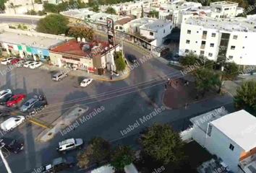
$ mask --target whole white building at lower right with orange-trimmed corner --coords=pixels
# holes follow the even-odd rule
[[[190,119],[192,138],[210,154],[221,158],[223,167],[235,173],[256,170],[256,118],[239,110],[203,114]]]

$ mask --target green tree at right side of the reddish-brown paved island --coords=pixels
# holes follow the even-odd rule
[[[216,89],[217,86],[221,85],[220,74],[207,68],[200,68],[195,72],[195,84],[197,90],[202,92],[202,97],[205,92],[210,89]]]

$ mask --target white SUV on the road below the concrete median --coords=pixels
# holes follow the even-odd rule
[[[56,148],[59,152],[73,150],[75,148],[82,148],[82,138],[69,138],[59,142],[59,147]]]

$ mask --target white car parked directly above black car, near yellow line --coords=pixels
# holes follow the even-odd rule
[[[25,121],[25,117],[19,115],[17,117],[10,117],[9,119],[5,120],[1,123],[0,127],[1,130],[8,131],[16,128],[20,125],[23,121]]]

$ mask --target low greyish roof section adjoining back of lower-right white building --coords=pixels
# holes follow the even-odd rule
[[[212,110],[210,112],[206,112],[202,115],[198,115],[197,117],[192,117],[190,119],[191,123],[201,130],[203,130],[205,133],[208,128],[208,123],[210,123],[213,120],[216,120],[220,117],[223,117],[224,115],[227,115],[229,112],[227,112],[223,107],[217,108],[215,110]]]

